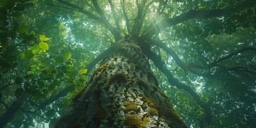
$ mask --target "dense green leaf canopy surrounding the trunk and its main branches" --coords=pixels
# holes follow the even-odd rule
[[[135,0],[121,1],[112,1],[115,13],[109,1],[98,3],[110,24],[115,26],[115,19],[119,20],[121,35],[125,36],[130,33],[122,5],[130,24],[136,22],[133,19],[138,9]],[[68,2],[100,15],[92,1]],[[163,49],[152,46],[152,50],[161,56],[174,77],[211,106],[211,123],[207,127],[255,127],[255,2],[152,0],[141,28],[144,30],[150,23],[157,24],[161,19],[192,9],[227,11],[218,17],[197,17],[172,27],[163,26],[163,31],[159,31],[154,40],[161,40],[175,51],[186,68],[177,65]],[[116,43],[112,34],[106,24],[58,1],[1,0],[0,116],[10,109],[18,109],[6,127],[40,127],[49,122],[52,125],[86,83],[86,65]],[[204,110],[188,92],[168,83],[150,63],[159,86],[170,97],[182,120],[190,127],[199,127]],[[22,106],[10,108],[25,94],[29,98]]]

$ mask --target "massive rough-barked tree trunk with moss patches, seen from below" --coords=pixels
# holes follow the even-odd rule
[[[56,127],[186,127],[159,90],[140,47],[132,40],[120,42]]]

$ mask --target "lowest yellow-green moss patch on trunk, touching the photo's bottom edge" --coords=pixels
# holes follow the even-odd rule
[[[127,128],[145,128],[141,118],[137,115],[127,115],[124,118],[124,124]]]

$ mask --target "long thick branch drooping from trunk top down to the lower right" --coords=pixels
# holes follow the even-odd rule
[[[168,70],[168,68],[164,66],[164,62],[161,60],[160,56],[157,56],[157,54],[151,51],[150,45],[147,42],[143,42],[143,40],[140,40],[138,42],[143,53],[147,55],[148,58],[150,58],[150,60],[154,62],[154,65],[156,65],[156,67],[161,72],[163,72],[164,76],[167,77],[168,82],[176,86],[177,88],[183,89],[186,92],[188,92],[196,100],[196,102],[204,109],[205,116],[203,120],[205,120],[205,122],[207,123],[211,122],[211,109],[204,101],[200,99],[200,96],[189,86],[187,86],[186,84],[180,83],[178,79],[173,77],[172,72],[170,72],[170,70]]]

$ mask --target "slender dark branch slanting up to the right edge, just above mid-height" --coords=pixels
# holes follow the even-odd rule
[[[214,67],[216,65],[218,65],[218,63],[220,63],[221,61],[225,61],[225,60],[228,60],[229,58],[232,58],[233,56],[236,56],[237,54],[241,53],[241,52],[246,52],[246,51],[256,51],[256,48],[254,47],[246,47],[244,49],[241,49],[241,50],[238,50],[238,51],[235,51],[235,52],[232,52],[230,54],[228,54],[227,56],[224,56],[214,62],[212,62],[210,64],[211,67]]]

